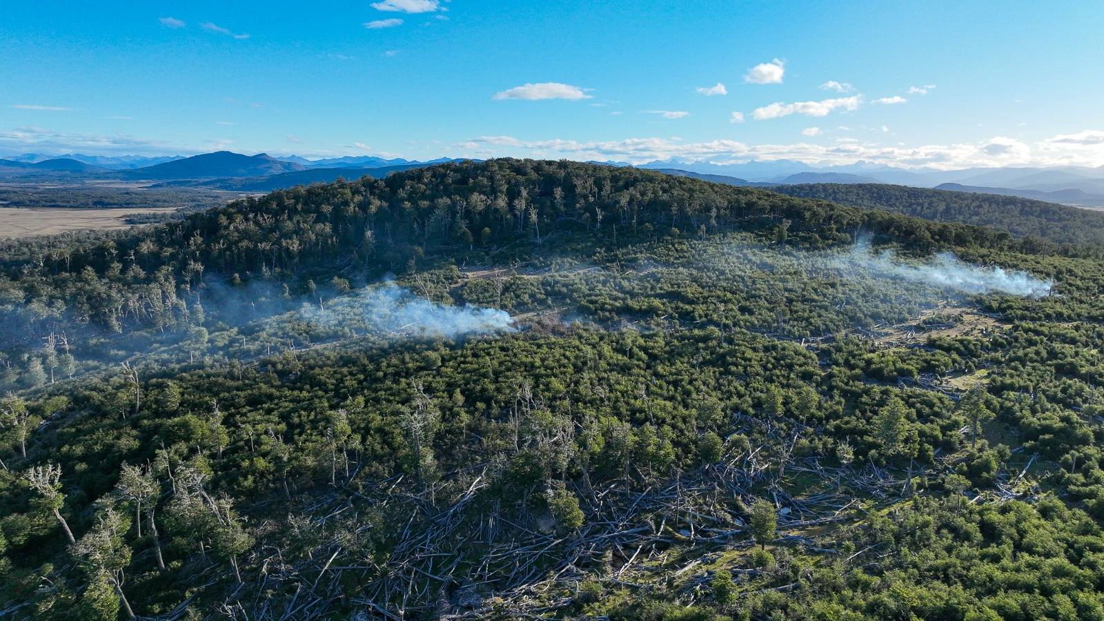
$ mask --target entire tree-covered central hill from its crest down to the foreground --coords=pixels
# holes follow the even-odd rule
[[[491,160],[4,252],[13,618],[1104,618],[1092,249]]]

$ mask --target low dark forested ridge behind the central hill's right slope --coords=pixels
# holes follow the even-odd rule
[[[773,189],[792,197],[885,209],[937,222],[990,227],[1059,244],[1104,244],[1104,212],[1052,202],[884,183],[806,183]]]

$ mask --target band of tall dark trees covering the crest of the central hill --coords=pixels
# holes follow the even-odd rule
[[[524,248],[544,253],[575,234],[617,244],[734,230],[804,248],[847,244],[860,234],[919,252],[1017,246],[1007,233],[986,229],[649,170],[500,159],[296,187],[100,244],[51,245],[42,253],[22,246],[19,260],[0,263],[7,276],[0,290],[117,329],[145,315],[135,285],[176,290],[204,272],[302,280],[311,270],[357,266],[371,278],[427,256],[461,263],[488,250],[499,257]]]

